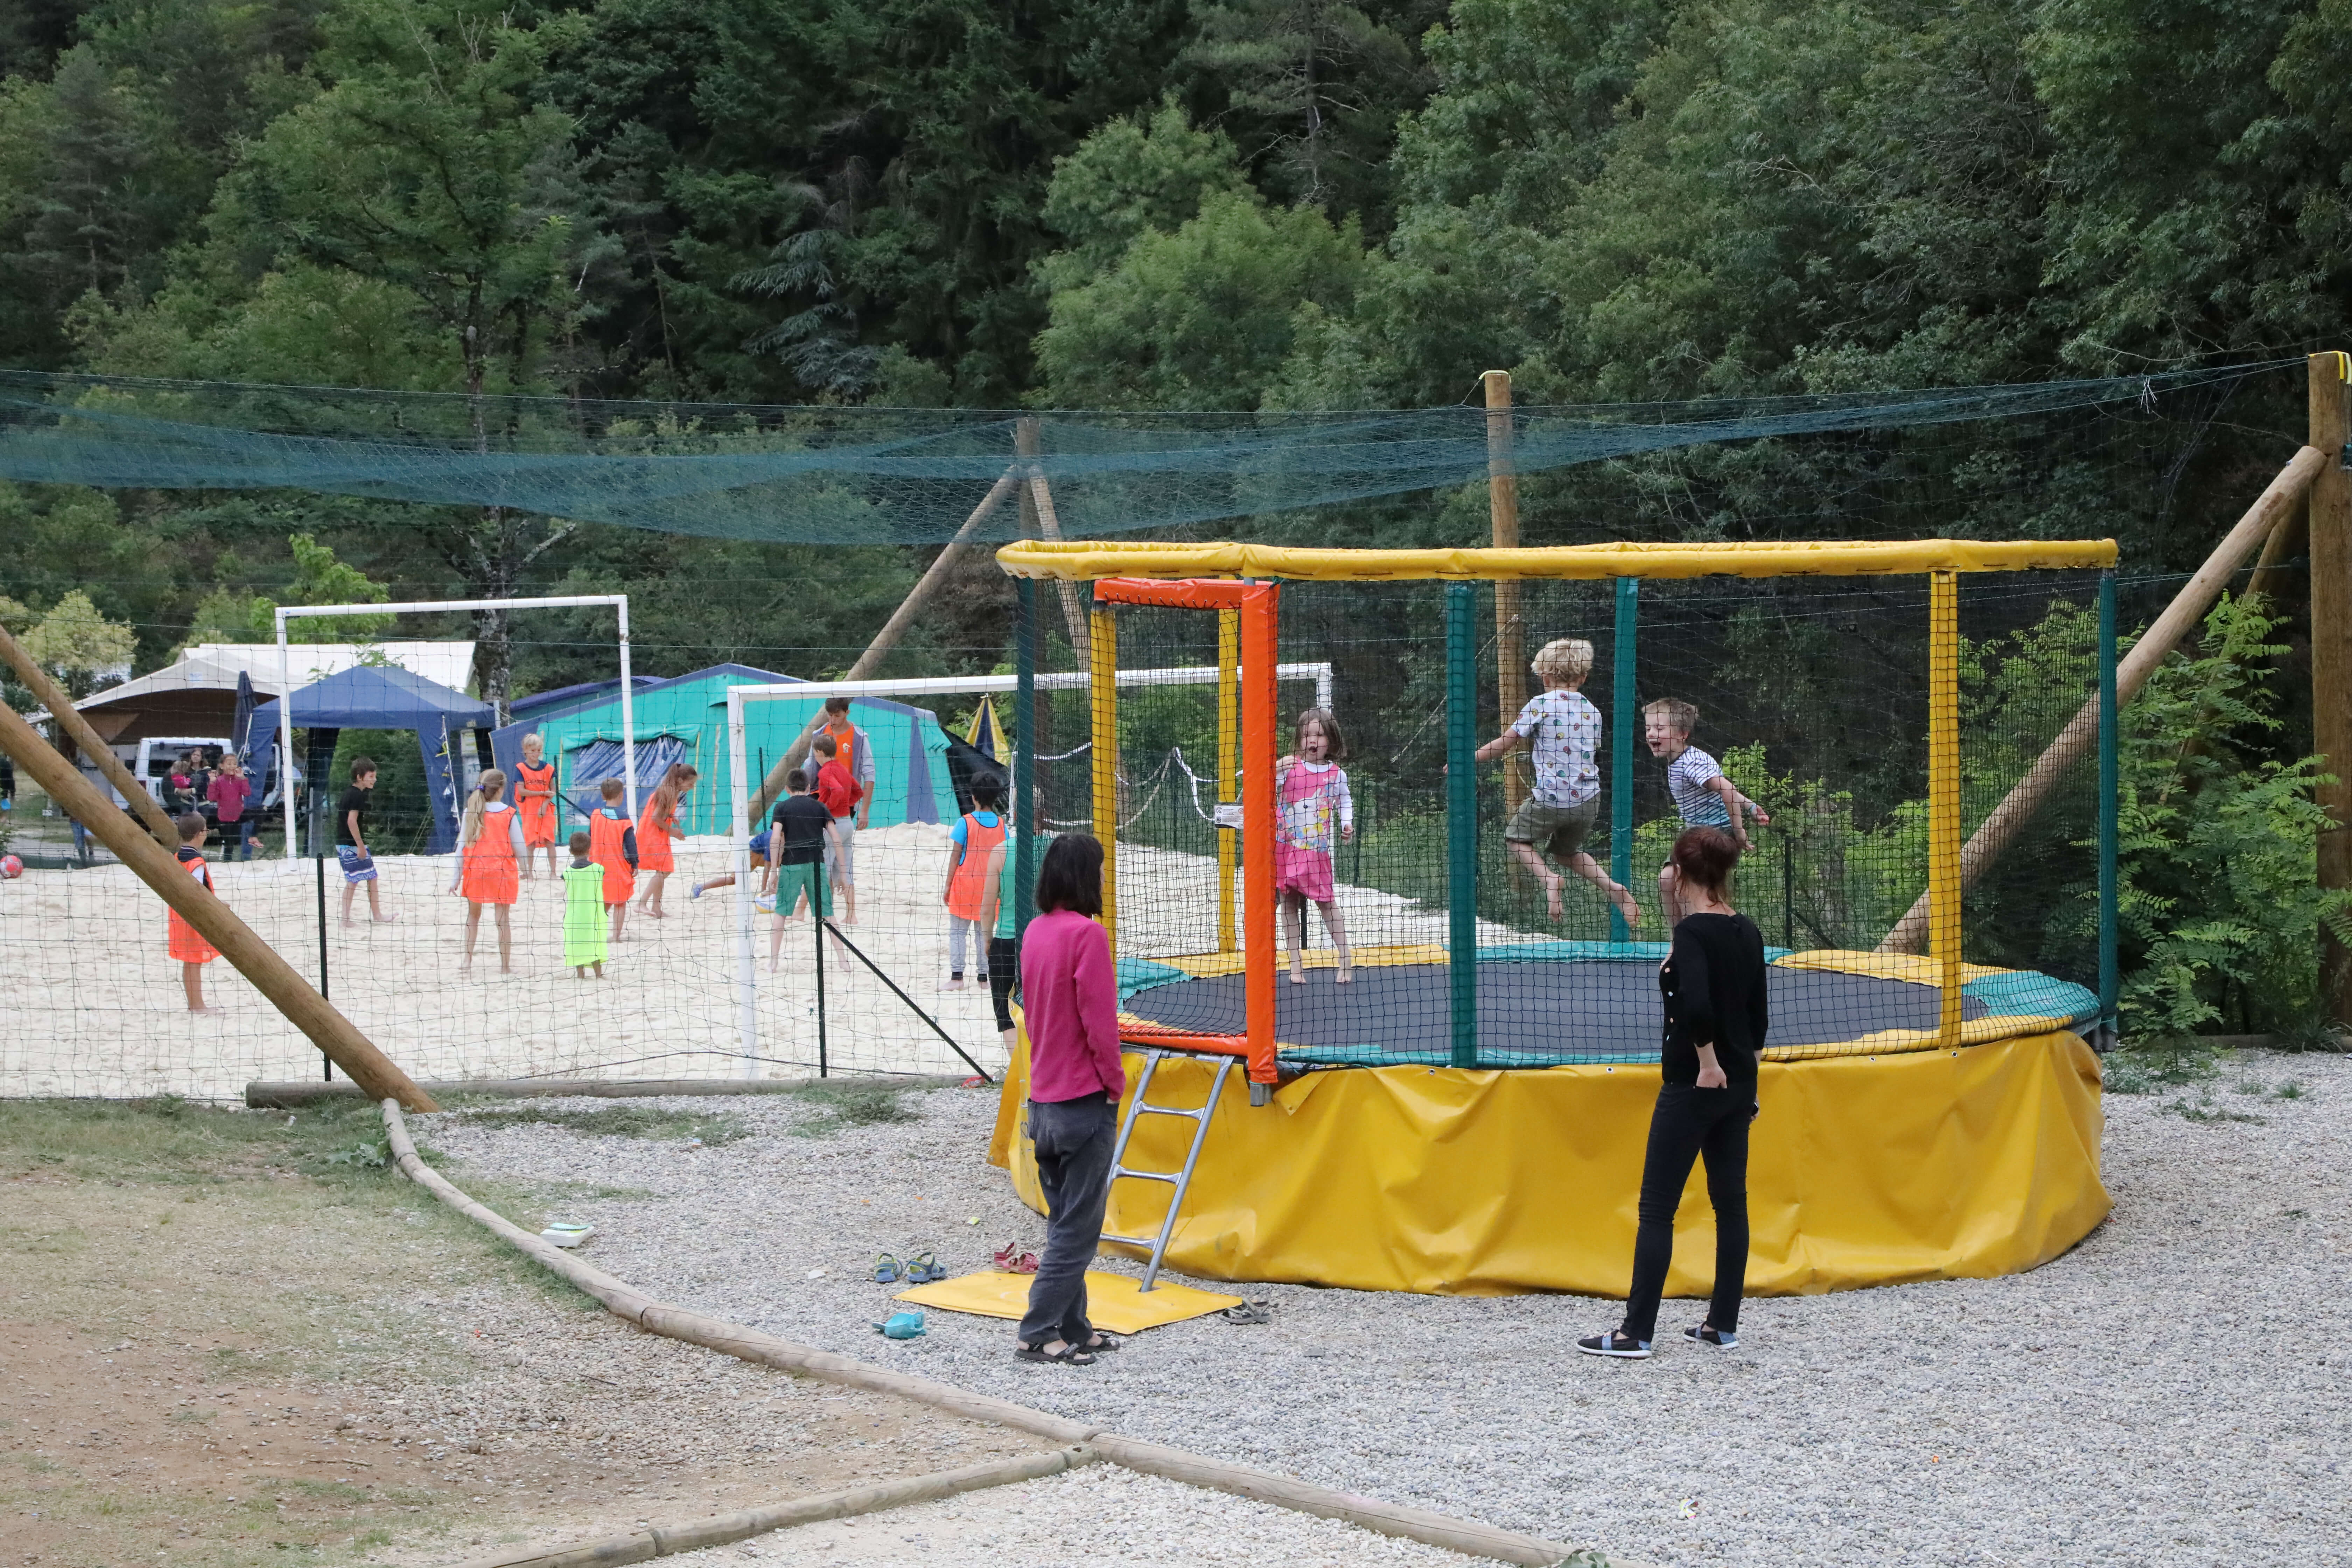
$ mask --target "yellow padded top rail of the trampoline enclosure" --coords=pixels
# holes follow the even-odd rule
[[[997,550],[1011,576],[1094,581],[1301,578],[1390,583],[1418,578],[1691,578],[1691,576],[1919,576],[1929,571],[2074,571],[2117,562],[2112,538],[1879,543],[1795,541],[1745,545],[1548,545],[1531,550],[1308,550],[1284,545],[1152,545],[1023,538]]]

